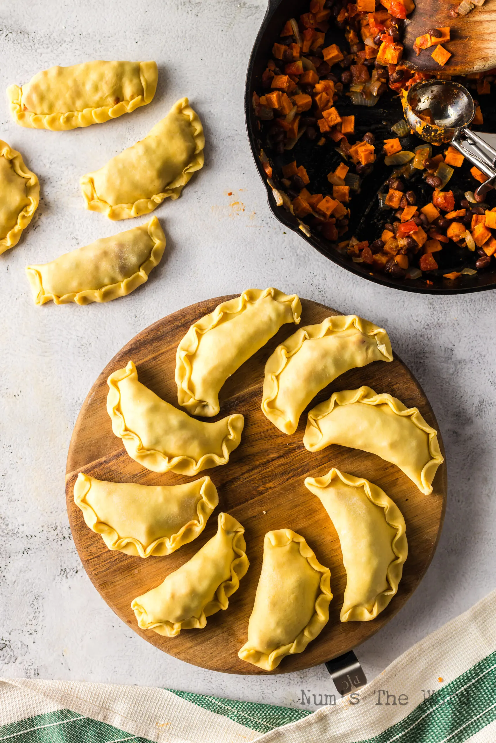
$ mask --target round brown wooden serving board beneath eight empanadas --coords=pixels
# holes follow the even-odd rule
[[[329,661],[367,640],[396,614],[411,596],[434,555],[442,527],[446,501],[446,467],[442,464],[434,479],[434,491],[422,495],[393,464],[379,457],[332,446],[311,454],[303,447],[306,412],[292,436],[281,433],[263,415],[263,370],[274,348],[295,331],[283,325],[279,333],[228,379],[221,390],[219,417],[233,412],[245,416],[245,429],[239,447],[228,464],[205,470],[219,490],[219,506],[204,532],[189,545],[168,557],[129,557],[109,551],[103,539],[92,532],[74,504],[73,487],[77,473],[115,482],[148,485],[178,484],[194,478],[150,472],[133,461],[120,438],[112,433],[106,412],[107,377],[132,359],[139,380],[161,398],[178,407],[174,381],[175,349],[187,329],[231,296],[219,296],[184,308],[139,333],[103,369],[91,388],[77,418],[68,452],[66,497],[72,536],[83,566],[95,588],[115,613],[141,637],[182,661],[196,666],[240,674],[263,674],[257,666],[238,658],[246,641],[248,619],[254,604],[263,557],[263,538],[271,529],[289,528],[305,537],[318,559],[331,571],[334,598],[329,607],[329,623],[305,652],[284,658],[274,673],[297,671]],[[317,302],[303,299],[300,325],[321,322],[339,314]],[[373,318],[370,318],[373,320]],[[376,392],[389,392],[407,406],[417,406],[431,426],[439,430],[434,413],[419,383],[405,364],[395,357],[392,363],[376,361],[363,369],[352,369],[324,389],[312,405],[326,400],[332,392],[355,389],[367,384]],[[212,419],[210,419],[212,420]],[[213,420],[216,420],[214,418]],[[442,440],[439,435],[439,445]],[[444,452],[443,452],[444,453]],[[331,467],[378,484],[399,505],[405,516],[408,559],[398,594],[387,609],[371,622],[341,623],[346,574],[338,536],[321,502],[306,490],[306,476],[322,476]],[[131,609],[132,600],[161,583],[167,574],[187,562],[217,529],[217,514],[232,513],[245,527],[250,568],[238,591],[229,599],[226,611],[208,617],[202,630],[183,630],[177,637],[161,637],[152,630],[141,630]]]

